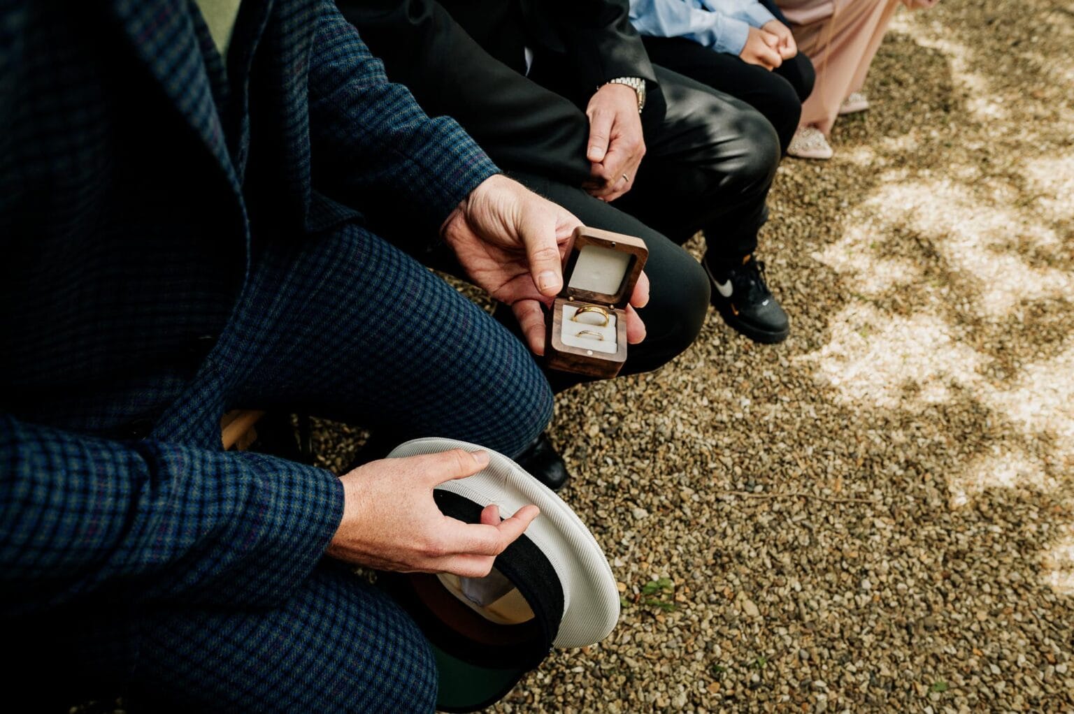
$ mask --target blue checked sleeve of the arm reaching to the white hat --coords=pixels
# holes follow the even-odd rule
[[[277,603],[323,555],[343,500],[339,479],[311,466],[0,414],[0,612],[95,593]]]

